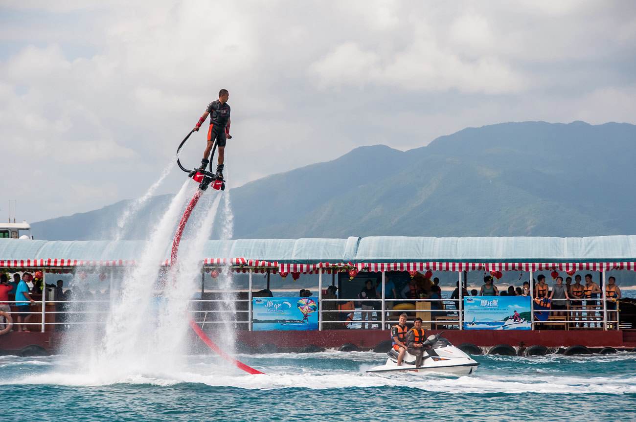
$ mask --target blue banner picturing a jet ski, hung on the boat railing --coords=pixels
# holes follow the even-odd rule
[[[464,330],[530,330],[529,296],[464,297]]]

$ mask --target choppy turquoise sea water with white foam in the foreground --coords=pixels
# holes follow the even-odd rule
[[[191,356],[112,379],[66,356],[0,357],[0,421],[633,421],[636,353],[478,356],[472,376],[371,375],[373,352]],[[117,378],[120,377],[120,378]]]

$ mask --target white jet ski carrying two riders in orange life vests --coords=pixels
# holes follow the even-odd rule
[[[448,375],[470,375],[477,371],[479,364],[463,351],[441,337],[442,333],[432,334],[424,341],[422,364],[415,366],[415,356],[404,353],[402,365],[397,366],[397,350],[389,350],[387,363],[373,367],[366,372],[372,374],[391,374],[396,372],[415,372],[417,375],[441,373]]]

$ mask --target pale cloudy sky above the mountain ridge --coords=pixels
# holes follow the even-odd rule
[[[0,217],[141,196],[219,88],[230,186],[466,126],[636,123],[635,46],[632,1],[4,0]]]

